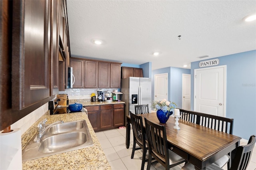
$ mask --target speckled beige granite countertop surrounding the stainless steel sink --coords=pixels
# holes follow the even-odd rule
[[[94,102],[92,102],[94,103]],[[90,121],[85,112],[79,113],[67,113],[60,115],[49,115],[46,113],[40,118],[32,127],[30,127],[22,135],[22,148],[26,143],[32,138],[36,132],[36,125],[43,119],[47,117],[48,122],[46,124],[54,123],[56,121],[63,120],[64,122],[76,121],[76,120],[86,120],[90,134],[93,140],[93,146],[82,148],[78,150],[73,150],[70,152],[64,152],[60,154],[55,154],[52,156],[46,156],[43,158],[38,158],[34,160],[28,160],[22,162],[22,169],[40,169],[40,170],[111,170],[110,164],[106,159],[100,142],[90,124]]]

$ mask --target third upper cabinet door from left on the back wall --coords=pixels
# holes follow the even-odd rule
[[[110,63],[99,62],[98,88],[110,87]]]

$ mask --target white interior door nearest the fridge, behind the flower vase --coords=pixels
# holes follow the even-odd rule
[[[168,73],[156,74],[154,78],[154,101],[168,100]]]

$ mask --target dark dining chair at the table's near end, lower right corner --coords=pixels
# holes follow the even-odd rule
[[[254,148],[256,139],[255,135],[250,136],[247,145],[238,146],[236,149],[232,151],[232,161],[230,170],[246,170],[250,163],[250,159],[252,157],[252,150]],[[233,156],[234,155],[234,156]],[[195,167],[191,163],[185,164],[182,170],[194,170]],[[215,163],[210,164],[210,166],[206,167],[206,170],[223,170],[220,166]]]

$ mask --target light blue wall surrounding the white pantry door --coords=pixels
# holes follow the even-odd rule
[[[226,65],[226,117],[234,119],[233,134],[244,139],[256,134],[256,50],[218,57]],[[203,60],[202,60],[203,61]],[[194,109],[194,69],[191,63],[191,110]]]

